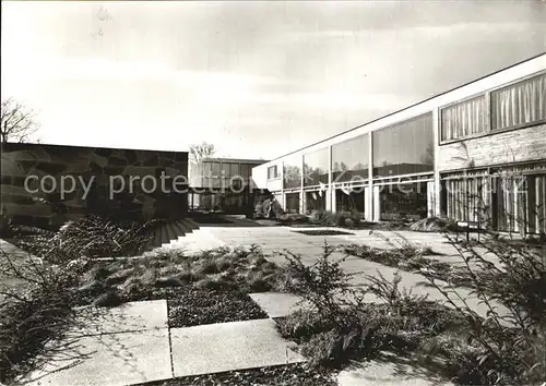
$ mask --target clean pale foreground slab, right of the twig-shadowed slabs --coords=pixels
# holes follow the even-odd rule
[[[270,318],[173,328],[170,340],[176,377],[305,361]]]

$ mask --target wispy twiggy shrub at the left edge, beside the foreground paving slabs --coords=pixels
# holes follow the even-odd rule
[[[31,366],[68,351],[54,341],[76,324],[72,306],[78,274],[32,256],[14,260],[1,251],[0,277],[22,282],[0,290],[0,382],[10,383]]]

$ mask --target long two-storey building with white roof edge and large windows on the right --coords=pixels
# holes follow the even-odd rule
[[[252,169],[287,212],[546,231],[546,55]]]

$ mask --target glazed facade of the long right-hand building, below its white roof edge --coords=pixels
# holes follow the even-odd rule
[[[480,86],[476,84],[476,87]],[[383,125],[343,142],[340,142],[341,137],[332,137],[319,144],[325,146],[319,150],[307,154],[301,150],[298,155],[288,156],[282,164],[282,170],[277,169],[281,168],[280,162],[278,167],[272,165],[266,169],[269,180],[284,173],[283,185],[278,181],[278,184],[269,182],[266,186],[274,193],[285,194],[284,203],[288,212],[323,210],[328,203],[328,208],[334,212],[366,210],[366,219],[370,220],[419,219],[441,213],[461,221],[479,221],[483,225],[490,221],[494,228],[508,231],[522,229],[519,222],[523,221],[526,231],[544,232],[545,168],[534,169],[533,166],[533,169],[526,170],[522,184],[491,174],[499,168],[514,168],[515,161],[523,165],[527,159],[535,165],[544,159],[542,144],[529,152],[529,157],[508,160],[497,157],[492,150],[498,150],[499,146],[495,141],[505,141],[509,134],[497,135],[490,141],[487,137],[483,142],[475,138],[494,134],[495,130],[535,125],[518,132],[513,140],[507,142],[518,142],[527,133],[529,142],[537,142],[537,137],[539,141],[539,130],[546,123],[546,74],[544,71],[539,74],[535,72],[517,82],[505,83],[500,88],[485,91],[476,87],[468,87],[467,97],[456,96],[460,99],[453,104],[444,105],[444,97],[427,101],[431,110],[428,113]],[[450,98],[450,94],[446,98]],[[367,131],[366,128],[359,130]],[[438,132],[435,133],[435,130]],[[482,168],[478,170],[474,166],[451,161],[461,158],[455,147],[460,146],[464,152],[465,144],[470,142],[449,142],[470,138],[485,144],[484,153],[488,152],[490,143],[495,164],[487,166],[487,171],[484,171],[484,162],[476,162]],[[472,146],[466,150],[475,152]],[[438,174],[432,176],[435,153],[442,157],[437,168],[442,176],[440,180]],[[464,172],[455,171],[459,169]],[[536,176],[530,174],[530,171],[535,173],[537,170]],[[372,180],[368,181],[370,173]],[[396,180],[400,183],[393,184]],[[328,186],[329,182],[332,185]],[[366,194],[354,190],[365,184]],[[328,190],[323,189],[324,185]],[[318,191],[312,192],[319,186],[322,195]],[[489,218],[485,218],[487,216]]]

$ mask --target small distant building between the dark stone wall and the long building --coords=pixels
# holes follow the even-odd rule
[[[252,168],[266,162],[263,159],[205,158],[191,164],[189,169],[192,193],[189,207],[195,210],[245,213],[253,207],[251,196],[245,194],[252,182]]]

